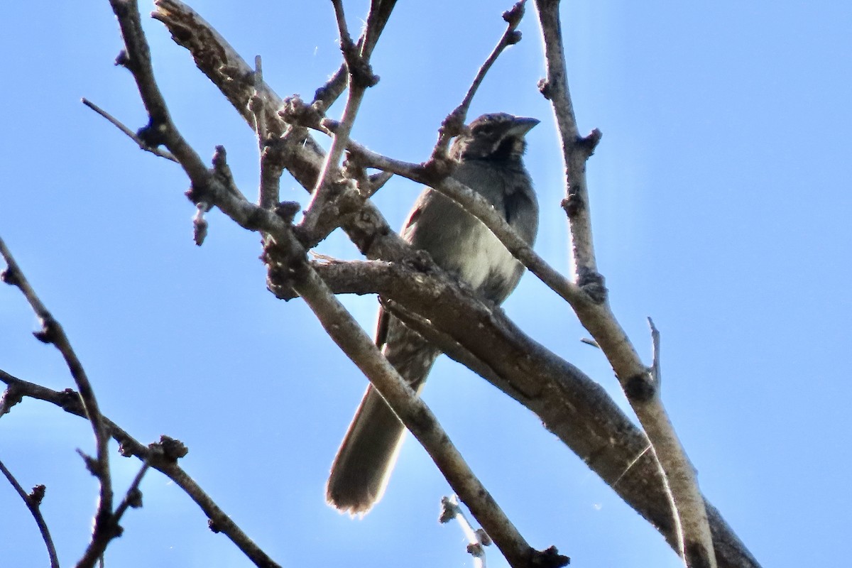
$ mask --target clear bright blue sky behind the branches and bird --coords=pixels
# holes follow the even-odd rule
[[[279,95],[305,97],[339,64],[330,3],[192,4]],[[420,161],[504,23],[507,3],[400,3],[376,50],[382,77],[354,137]],[[150,5],[143,3],[142,12]],[[358,29],[366,2],[347,3]],[[599,266],[613,310],[650,352],[663,334],[664,400],[715,503],[763,565],[839,565],[852,498],[845,433],[849,353],[852,5],[566,3],[569,81],[581,131],[604,136],[589,163]],[[283,566],[469,565],[461,532],[438,525],[446,482],[411,440],[365,519],[325,506],[331,459],[366,380],[299,301],[265,290],[258,238],[211,213],[204,247],[181,170],[141,152],[79,99],[137,128],[141,103],[112,66],[118,26],[103,2],[11,3],[0,34],[0,235],[60,318],[102,410],[137,439],[183,440],[187,472]],[[256,195],[252,132],[157,22],[155,72],[202,155],[223,144]],[[527,166],[542,206],[537,250],[567,269],[561,158],[532,9],[477,95],[471,117],[542,119]],[[335,109],[339,112],[339,108]],[[306,203],[291,180],[282,198]],[[419,188],[391,181],[377,204],[399,225]],[[351,258],[339,235],[321,252]],[[375,300],[346,298],[371,330]],[[505,305],[531,336],[625,405],[602,354],[561,301],[526,276]],[[0,290],[0,368],[72,386],[35,318]],[[527,410],[440,359],[424,397],[534,546],[582,566],[677,566],[647,523]],[[75,448],[87,424],[26,401],[0,420],[0,459],[43,511],[62,565],[87,542],[96,487]],[[117,487],[138,464],[113,453]],[[248,566],[159,473],[124,519],[107,565]],[[36,527],[0,485],[3,565],[46,565]],[[504,565],[496,551],[492,565]]]

